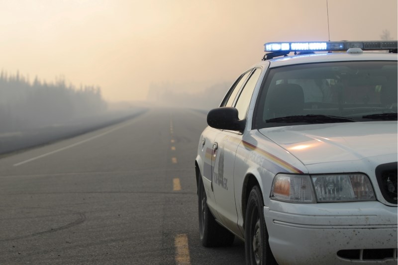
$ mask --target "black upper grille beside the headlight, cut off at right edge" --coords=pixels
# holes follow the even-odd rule
[[[383,197],[388,202],[397,204],[397,163],[378,166],[376,177]]]

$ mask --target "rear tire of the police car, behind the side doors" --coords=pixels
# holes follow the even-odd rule
[[[231,246],[235,235],[215,221],[207,206],[207,196],[201,176],[198,185],[199,234],[202,246]]]

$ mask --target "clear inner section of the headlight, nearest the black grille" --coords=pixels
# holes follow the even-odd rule
[[[375,200],[369,177],[364,174],[311,176],[318,202]]]

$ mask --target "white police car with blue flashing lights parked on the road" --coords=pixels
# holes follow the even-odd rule
[[[397,264],[397,41],[265,51],[199,139],[201,244],[243,240],[248,265]]]

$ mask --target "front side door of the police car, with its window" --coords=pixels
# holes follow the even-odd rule
[[[250,100],[260,74],[260,68],[251,72],[250,77],[232,103],[232,106],[238,109],[240,120],[246,119]],[[212,185],[217,214],[220,221],[236,234],[241,234],[241,231],[237,225],[233,172],[236,150],[241,141],[242,132],[223,130],[216,135],[213,143]]]

